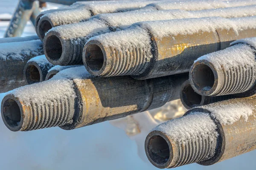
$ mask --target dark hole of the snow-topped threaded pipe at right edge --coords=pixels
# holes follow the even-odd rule
[[[212,69],[204,64],[199,64],[195,67],[192,79],[196,88],[202,91],[209,91],[215,82]]]

